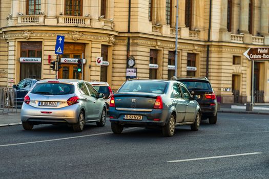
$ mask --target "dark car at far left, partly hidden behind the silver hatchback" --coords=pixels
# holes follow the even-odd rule
[[[26,94],[30,91],[30,89],[33,87],[33,85],[37,82],[36,79],[26,78],[22,81],[18,82],[17,85],[13,85],[13,87],[16,89],[16,102],[17,104],[23,104],[24,97]]]

